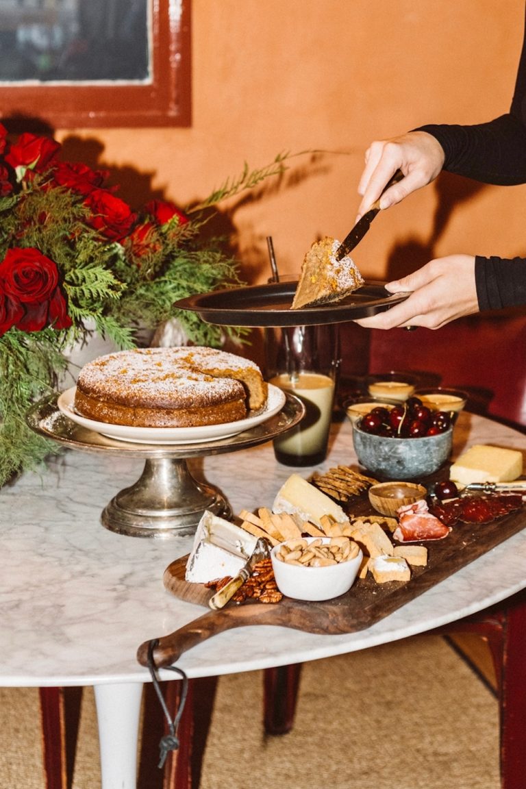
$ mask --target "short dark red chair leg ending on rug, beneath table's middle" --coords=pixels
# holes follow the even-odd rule
[[[294,725],[301,664],[263,672],[263,724],[269,735],[285,735]]]

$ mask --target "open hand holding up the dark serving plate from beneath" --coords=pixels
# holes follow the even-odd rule
[[[387,282],[392,294],[411,295],[370,318],[356,320],[369,329],[424,326],[439,329],[450,320],[479,312],[475,284],[475,256],[449,255],[431,260],[402,279]]]

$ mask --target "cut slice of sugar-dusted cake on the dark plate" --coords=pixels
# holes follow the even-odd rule
[[[339,245],[339,241],[326,236],[308,250],[301,265],[293,309],[336,304],[364,284],[349,255],[336,259]]]

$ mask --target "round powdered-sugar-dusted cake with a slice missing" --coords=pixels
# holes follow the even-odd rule
[[[267,402],[254,362],[203,346],[109,353],[80,370],[77,413],[109,424],[188,428],[244,419]]]

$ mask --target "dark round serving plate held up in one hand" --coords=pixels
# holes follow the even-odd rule
[[[291,309],[297,282],[270,282],[228,290],[213,290],[176,301],[176,309],[198,312],[206,323],[219,326],[314,326],[345,323],[383,312],[408,293],[390,294],[382,282],[364,286],[335,305]]]

